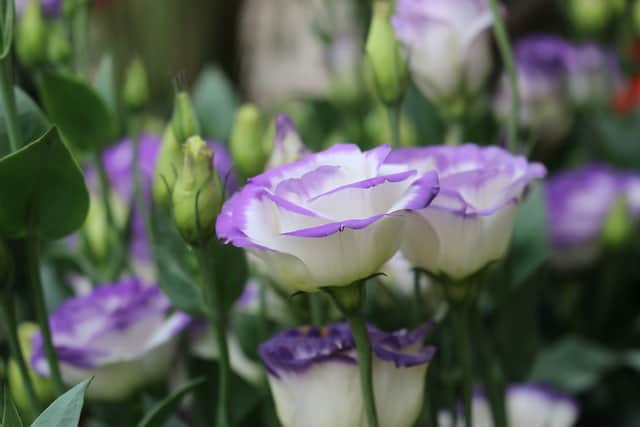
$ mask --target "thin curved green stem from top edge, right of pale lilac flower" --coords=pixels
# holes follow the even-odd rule
[[[493,15],[493,32],[498,43],[498,50],[505,70],[509,76],[509,85],[511,86],[511,114],[507,123],[507,136],[509,138],[508,147],[512,152],[516,152],[518,147],[518,127],[520,121],[520,93],[518,91],[518,72],[513,60],[513,52],[507,28],[500,13],[500,6],[497,0],[489,0],[491,14]]]

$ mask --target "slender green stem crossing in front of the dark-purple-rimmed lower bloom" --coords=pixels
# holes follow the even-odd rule
[[[371,357],[371,342],[367,333],[367,325],[360,313],[346,315],[351,333],[356,343],[358,353],[358,367],[360,368],[360,386],[364,400],[367,423],[369,427],[378,427],[378,413],[373,391],[373,366]]]

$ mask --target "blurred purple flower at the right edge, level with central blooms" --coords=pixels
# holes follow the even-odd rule
[[[562,268],[584,267],[601,250],[600,237],[616,201],[623,197],[631,218],[640,218],[640,177],[602,164],[561,172],[545,186],[552,260]]]

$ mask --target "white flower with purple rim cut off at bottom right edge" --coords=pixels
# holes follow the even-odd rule
[[[477,392],[472,405],[473,425],[493,427],[491,409],[484,394]],[[571,427],[578,418],[578,405],[571,397],[531,384],[510,386],[506,407],[508,423],[513,427]],[[441,412],[438,418],[441,427],[453,426],[450,414]],[[458,418],[457,425],[464,426],[463,417]]]

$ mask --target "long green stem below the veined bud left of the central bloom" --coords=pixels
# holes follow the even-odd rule
[[[198,263],[202,270],[202,292],[209,308],[209,329],[218,347],[218,406],[216,411],[216,426],[230,427],[229,420],[229,385],[231,367],[229,363],[229,347],[227,345],[227,328],[222,289],[215,280],[213,271],[213,256],[207,250],[208,245],[196,248]]]

